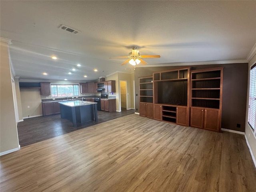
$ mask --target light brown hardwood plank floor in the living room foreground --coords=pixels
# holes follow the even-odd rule
[[[124,116],[1,156],[1,192],[256,192],[243,135]]]

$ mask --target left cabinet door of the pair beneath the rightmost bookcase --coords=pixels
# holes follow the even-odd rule
[[[204,109],[203,108],[190,108],[190,126],[203,128],[204,122]]]

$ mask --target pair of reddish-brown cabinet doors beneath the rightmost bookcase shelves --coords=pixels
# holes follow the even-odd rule
[[[190,126],[219,132],[220,110],[191,107]]]

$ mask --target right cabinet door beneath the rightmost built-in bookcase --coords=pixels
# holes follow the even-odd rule
[[[204,109],[204,129],[219,131],[220,128],[220,110]]]

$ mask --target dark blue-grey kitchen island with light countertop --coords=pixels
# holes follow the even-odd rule
[[[60,103],[60,117],[73,122],[73,126],[90,121],[98,121],[97,103],[89,101],[64,101]]]

